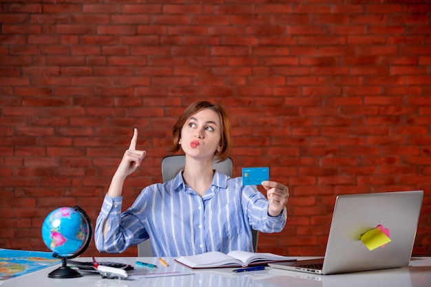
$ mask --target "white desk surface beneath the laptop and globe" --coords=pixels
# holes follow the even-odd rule
[[[300,258],[300,257],[299,257]],[[190,271],[190,268],[174,262],[174,258],[166,259],[168,267],[162,266],[154,257],[96,257],[98,261],[115,261],[135,265],[136,260],[154,263],[159,270]],[[91,261],[90,257],[77,260]],[[175,277],[155,277],[134,281],[119,279],[103,279],[97,273],[82,273],[83,277],[73,279],[52,279],[48,273],[58,268],[53,266],[23,275],[17,278],[0,281],[1,287],[430,287],[431,257],[414,257],[409,266],[385,270],[374,270],[340,275],[308,275],[288,270],[267,267],[265,270],[232,273],[234,268],[192,270],[193,275]],[[136,267],[138,268],[143,267]]]

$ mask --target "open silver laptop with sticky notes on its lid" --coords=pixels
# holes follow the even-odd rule
[[[407,266],[422,200],[423,191],[338,195],[325,256],[269,266],[323,275]],[[370,250],[361,237],[377,226],[389,230],[390,242]]]

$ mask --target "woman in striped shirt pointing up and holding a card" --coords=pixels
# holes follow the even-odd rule
[[[220,105],[198,101],[178,118],[171,151],[182,149],[185,168],[173,180],[151,184],[121,213],[127,176],[145,157],[136,150],[138,131],[109,186],[96,221],[98,251],[121,253],[151,237],[155,256],[178,257],[209,251],[253,251],[251,228],[264,233],[282,231],[286,223],[288,189],[262,182],[268,200],[242,178],[213,171],[213,160],[229,158],[230,121]]]

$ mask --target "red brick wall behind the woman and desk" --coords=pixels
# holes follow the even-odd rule
[[[138,127],[131,204],[208,99],[231,115],[235,176],[268,165],[290,187],[259,251],[323,255],[336,195],[423,189],[414,253],[431,255],[431,4],[384,2],[1,1],[0,247],[48,251],[59,206],[95,221]]]

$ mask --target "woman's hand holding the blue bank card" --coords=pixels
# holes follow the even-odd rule
[[[279,183],[264,181],[262,187],[266,189],[266,198],[269,201],[268,214],[278,216],[283,211],[289,197],[288,187]]]

